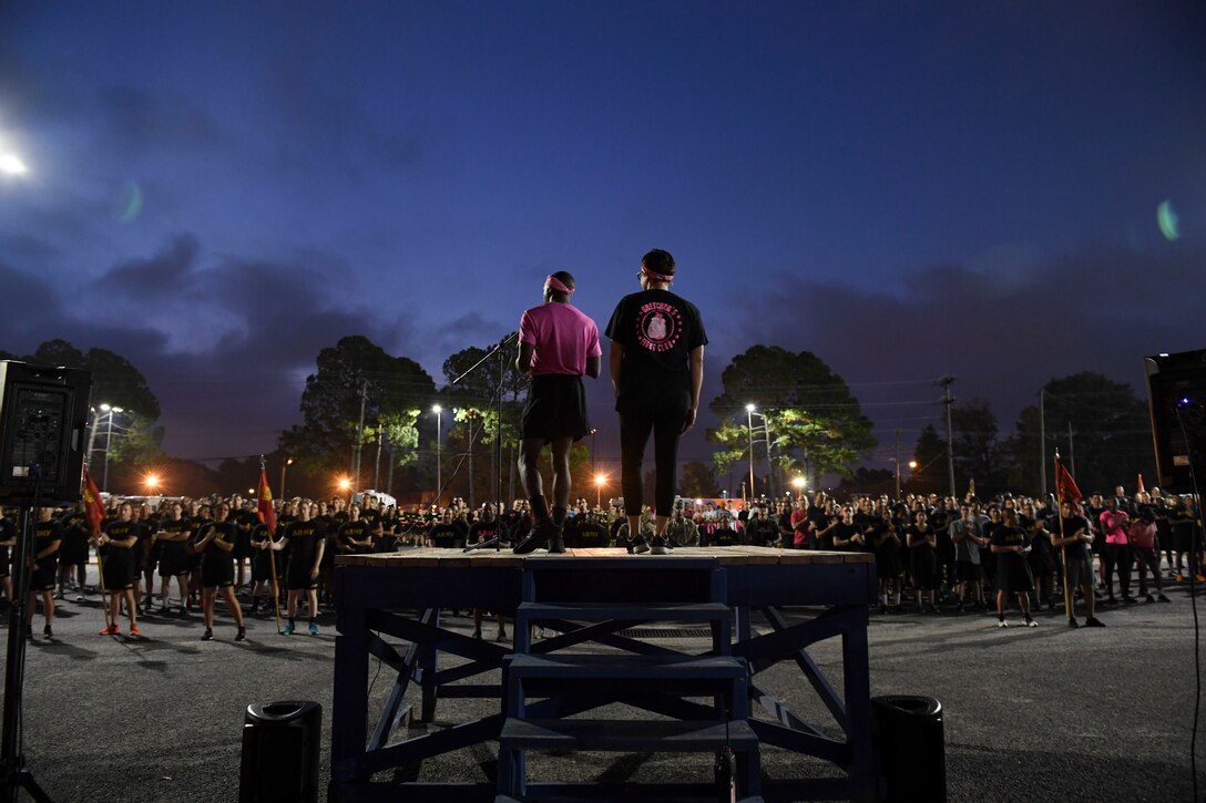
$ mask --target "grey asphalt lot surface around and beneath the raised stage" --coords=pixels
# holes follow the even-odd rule
[[[996,627],[996,617],[872,615],[873,694],[920,694],[944,708],[952,801],[1192,799],[1189,743],[1194,715],[1194,620],[1188,587],[1169,588],[1171,604],[1105,608],[1100,629],[1070,629],[1062,610],[1043,611],[1040,627]],[[1206,615],[1206,610],[1202,611]],[[808,611],[797,615],[807,616]],[[468,617],[452,627],[472,631]],[[334,616],[318,635],[277,634],[270,617],[248,617],[248,638],[219,609],[216,639],[203,641],[199,614],[151,615],[145,638],[101,637],[99,597],[60,602],[55,638],[29,644],[24,694],[24,754],[35,779],[55,801],[188,802],[238,797],[240,733],[246,707],[312,699],[323,707],[321,778],[328,776]],[[124,627],[124,621],[123,621]],[[493,627],[486,627],[486,637]],[[674,639],[692,649],[691,638]],[[698,649],[706,649],[704,639]],[[813,657],[839,682],[838,645]],[[390,670],[376,676],[375,701]],[[820,705],[795,667],[771,670],[768,686],[824,725]],[[446,727],[487,705],[441,703],[427,729]],[[370,707],[370,720],[371,720]],[[1199,739],[1201,742],[1201,739]],[[772,776],[818,768],[763,757]],[[1199,770],[1201,770],[1199,744]],[[490,745],[423,764],[421,778],[482,781]],[[551,755],[532,762],[541,779],[592,780],[710,773],[681,756]],[[781,775],[779,775],[781,774]],[[1199,796],[1206,778],[1199,772]]]

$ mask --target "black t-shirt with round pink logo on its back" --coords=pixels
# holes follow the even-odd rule
[[[691,406],[693,348],[708,342],[699,310],[665,289],[620,299],[607,336],[624,346],[619,412],[673,412]]]

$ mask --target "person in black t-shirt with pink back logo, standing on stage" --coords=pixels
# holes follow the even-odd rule
[[[615,409],[620,414],[620,467],[625,515],[634,553],[669,551],[666,526],[674,512],[678,444],[695,426],[703,387],[703,347],[708,336],[693,304],[671,292],[674,257],[655,248],[640,260],[640,292],[620,299],[607,336]],[[655,523],[652,544],[640,533],[644,504],[640,471],[654,435]]]

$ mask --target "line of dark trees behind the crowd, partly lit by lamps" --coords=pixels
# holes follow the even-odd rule
[[[392,356],[362,335],[322,348],[302,392],[302,422],[281,433],[270,464],[293,458],[291,494],[321,496],[332,490],[334,477],[344,476],[357,487],[393,490],[414,502],[429,502],[438,480],[446,486],[445,502],[455,496],[470,503],[493,498],[496,482],[504,498],[514,498],[527,380],[515,370],[511,348],[496,350],[514,334],[451,354],[439,386],[417,362]],[[65,340],[49,340],[33,354],[0,351],[0,358],[90,370],[94,404],[104,400],[130,411],[109,452],[122,477],[123,471],[136,475],[140,467],[170,462],[174,485],[187,482],[191,493],[201,494],[211,488],[244,491],[247,477],[258,475],[258,458],[230,458],[209,469],[166,456],[157,423],[159,402],[121,354],[83,352]],[[819,356],[755,345],[732,358],[721,385],[720,395],[708,404],[718,421],[707,430],[712,461],[683,467],[684,496],[720,496],[720,477],[736,475],[743,477],[742,491],[755,496],[795,492],[797,477],[807,488],[836,481],[847,492],[894,493],[895,471],[866,465],[878,446],[874,423],[845,380]],[[1044,479],[1049,491],[1055,449],[1085,491],[1132,487],[1140,471],[1154,479],[1147,405],[1129,385],[1082,373],[1050,380],[1036,397],[1041,404],[1023,410],[1007,434],[988,402],[953,404],[950,444],[936,405],[936,423],[921,429],[912,452],[915,468],[904,473],[902,491],[946,493],[948,447],[959,494],[973,482],[979,496],[1040,493]],[[595,487],[592,449],[587,439],[570,455],[575,493],[587,498],[593,498]],[[613,479],[608,496],[619,493],[617,485]]]

